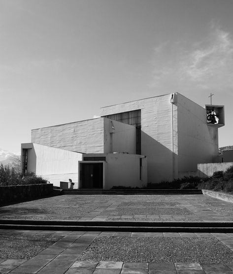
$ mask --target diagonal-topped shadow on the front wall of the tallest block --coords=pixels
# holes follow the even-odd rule
[[[178,177],[178,155],[143,131],[141,131],[141,154],[147,157],[148,183],[172,181]]]

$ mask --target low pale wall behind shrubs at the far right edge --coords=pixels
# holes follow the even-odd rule
[[[210,177],[216,171],[225,171],[227,168],[233,165],[233,162],[228,163],[207,163],[198,164],[197,176]]]

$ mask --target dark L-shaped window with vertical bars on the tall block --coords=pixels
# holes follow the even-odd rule
[[[105,115],[108,119],[127,123],[136,127],[136,153],[141,154],[141,110],[132,110],[121,113]]]

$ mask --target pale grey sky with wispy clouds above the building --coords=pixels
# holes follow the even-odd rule
[[[233,145],[233,0],[0,0],[0,148],[31,129],[178,91],[225,105]]]

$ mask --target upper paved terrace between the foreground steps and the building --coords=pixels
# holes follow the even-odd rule
[[[232,205],[206,195],[62,195],[0,207],[0,218],[224,222]]]

